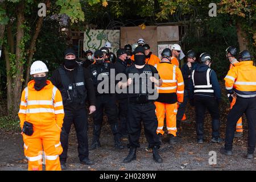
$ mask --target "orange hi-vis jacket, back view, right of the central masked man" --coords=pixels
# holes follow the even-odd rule
[[[177,101],[183,102],[184,81],[182,73],[174,64],[161,62],[155,65],[163,84],[156,87],[158,93],[176,93]]]

